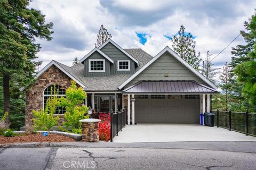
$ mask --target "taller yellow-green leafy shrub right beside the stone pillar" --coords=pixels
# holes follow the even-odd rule
[[[71,81],[71,86],[66,90],[66,98],[60,98],[60,105],[66,108],[63,125],[71,127],[73,133],[82,133],[79,120],[89,118],[86,114],[88,107],[83,105],[85,99],[86,92],[82,87],[77,88],[75,81]]]

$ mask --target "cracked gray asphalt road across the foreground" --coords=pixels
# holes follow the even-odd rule
[[[255,145],[105,142],[73,147],[0,148],[0,169],[255,169]]]

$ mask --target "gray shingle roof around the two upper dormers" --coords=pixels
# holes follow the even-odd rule
[[[140,66],[135,69],[135,72],[153,58],[142,49],[124,50],[139,61]],[[74,77],[79,78],[87,87],[85,89],[87,91],[119,91],[118,87],[132,76],[131,74],[116,74],[110,75],[110,77],[84,77],[84,65],[81,63],[71,67],[64,64],[61,64],[61,66],[70,74],[74,74]]]

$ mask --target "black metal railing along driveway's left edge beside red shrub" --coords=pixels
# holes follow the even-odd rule
[[[118,132],[122,131],[126,123],[126,109],[118,112],[110,112],[111,128],[110,128],[110,142],[113,138],[118,136]]]

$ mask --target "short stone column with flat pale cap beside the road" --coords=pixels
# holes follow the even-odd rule
[[[98,142],[99,137],[99,122],[101,120],[95,118],[86,118],[80,120],[82,122],[82,139],[87,142]]]

